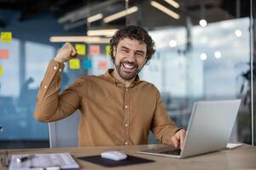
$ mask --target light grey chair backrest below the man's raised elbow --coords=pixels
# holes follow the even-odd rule
[[[79,146],[79,117],[80,113],[76,111],[61,121],[48,123],[50,148]]]

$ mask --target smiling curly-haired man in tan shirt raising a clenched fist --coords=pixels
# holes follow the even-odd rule
[[[138,26],[125,26],[110,40],[114,69],[80,77],[58,94],[64,63],[76,56],[66,43],[49,63],[34,116],[54,122],[79,109],[79,146],[148,144],[148,132],[164,144],[183,146],[185,130],[177,128],[153,84],[140,81],[139,71],[154,54],[154,42]]]

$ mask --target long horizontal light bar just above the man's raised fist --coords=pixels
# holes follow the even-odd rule
[[[85,42],[85,43],[109,43],[110,38],[107,37],[50,37],[50,42]]]

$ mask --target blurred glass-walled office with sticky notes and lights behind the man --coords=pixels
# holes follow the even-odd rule
[[[62,89],[77,77],[103,74],[113,66],[109,36],[127,25],[143,26],[153,37],[157,52],[140,77],[160,89],[179,127],[188,126],[197,100],[241,99],[230,141],[256,144],[255,4],[0,0],[0,149],[49,147],[48,124],[33,118],[49,60],[63,42],[72,41],[79,50],[79,58],[66,64]],[[150,134],[148,142],[158,141]]]

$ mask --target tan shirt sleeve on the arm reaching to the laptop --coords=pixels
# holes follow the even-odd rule
[[[154,137],[159,139],[161,143],[172,144],[172,136],[180,128],[176,127],[175,122],[173,122],[170,116],[168,116],[159,91],[156,95],[157,101],[153,121],[151,123],[151,130],[154,133]]]

